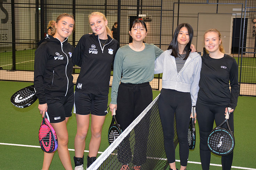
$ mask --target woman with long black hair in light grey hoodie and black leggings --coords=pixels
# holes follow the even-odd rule
[[[201,56],[190,50],[192,38],[191,25],[178,25],[168,50],[155,60],[155,74],[163,73],[158,107],[170,170],[176,170],[173,144],[174,113],[179,139],[180,170],[186,170],[187,167],[189,154],[187,131],[192,106],[196,105],[202,65]]]

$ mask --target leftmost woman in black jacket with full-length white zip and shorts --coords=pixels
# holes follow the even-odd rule
[[[68,130],[66,123],[72,115],[74,89],[72,76],[72,52],[74,47],[68,43],[75,20],[69,14],[57,17],[55,32],[46,35],[35,51],[34,87],[39,100],[38,109],[42,117],[53,126],[58,138],[58,153],[63,167],[71,170],[68,151]],[[44,153],[42,170],[48,170],[54,153]]]

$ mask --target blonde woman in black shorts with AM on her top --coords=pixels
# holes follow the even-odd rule
[[[73,58],[81,67],[76,83],[74,113],[77,120],[75,137],[75,170],[83,170],[85,138],[90,124],[92,137],[87,168],[96,160],[101,143],[102,125],[107,114],[111,64],[119,43],[113,39],[108,20],[101,12],[92,12],[89,24],[93,34],[79,40]]]

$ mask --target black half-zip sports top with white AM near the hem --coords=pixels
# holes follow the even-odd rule
[[[85,34],[81,37],[72,56],[74,63],[81,67],[76,91],[108,95],[111,63],[118,48],[118,41],[110,36],[104,46],[98,35]]]

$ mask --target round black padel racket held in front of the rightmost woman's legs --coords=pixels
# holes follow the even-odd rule
[[[207,140],[209,150],[216,155],[228,155],[233,151],[235,146],[235,138],[228,123],[230,116],[229,110],[231,108],[228,108],[225,120],[211,131]],[[227,125],[227,129],[222,127],[224,124]]]

